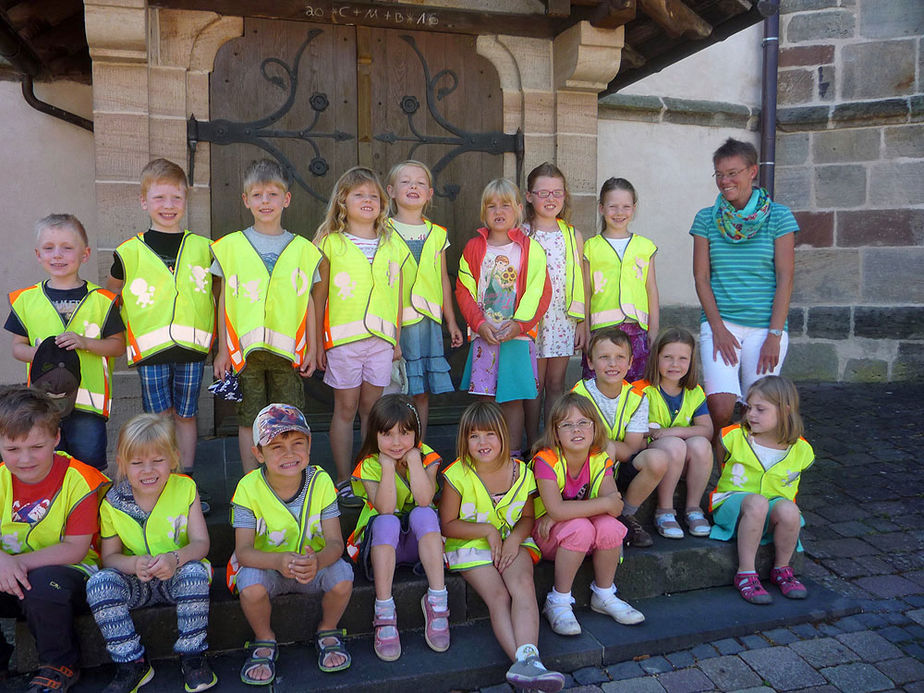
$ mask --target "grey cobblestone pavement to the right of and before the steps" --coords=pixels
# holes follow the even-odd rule
[[[862,613],[579,669],[568,691],[924,692],[924,386],[800,391],[817,455],[797,500],[802,574],[858,600]]]

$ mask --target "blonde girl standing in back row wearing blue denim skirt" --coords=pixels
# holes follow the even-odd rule
[[[462,346],[452,290],[446,271],[446,229],[424,217],[433,199],[433,176],[419,161],[403,161],[388,174],[388,196],[395,206],[391,226],[410,248],[413,262],[404,264],[401,355],[407,364],[408,394],[420,415],[420,435],[427,434],[430,393],[452,392],[449,363],[443,356],[442,322],[450,346]]]

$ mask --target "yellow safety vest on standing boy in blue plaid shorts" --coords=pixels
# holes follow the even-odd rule
[[[174,346],[207,353],[215,335],[212,256],[207,238],[183,232],[171,272],[144,234],[116,248],[125,271],[122,315],[129,364]]]

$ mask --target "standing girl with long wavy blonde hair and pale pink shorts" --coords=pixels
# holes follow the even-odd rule
[[[356,413],[365,438],[369,411],[401,358],[402,274],[411,253],[388,225],[385,200],[373,171],[351,168],[334,186],[314,237],[322,253],[313,289],[318,368],[334,389],[330,446],[337,495],[347,507],[362,505],[350,483]]]

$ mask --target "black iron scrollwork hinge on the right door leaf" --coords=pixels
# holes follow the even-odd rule
[[[440,172],[449,163],[460,154],[466,152],[483,152],[485,154],[504,154],[512,152],[516,156],[517,184],[521,183],[521,170],[523,168],[523,133],[520,130],[513,135],[504,132],[469,132],[461,127],[450,123],[437,109],[437,102],[456,90],[459,86],[459,77],[450,69],[443,69],[437,72],[433,77],[430,76],[430,68],[423,54],[417,47],[414,37],[404,34],[401,39],[405,41],[417,58],[420,60],[420,66],[423,69],[424,81],[426,86],[427,110],[430,117],[435,120],[440,127],[450,133],[448,136],[433,136],[421,134],[414,125],[414,115],[420,110],[420,101],[416,96],[407,94],[401,98],[401,111],[407,116],[408,128],[413,133],[412,136],[399,136],[394,132],[384,132],[375,135],[375,139],[387,144],[395,142],[413,142],[413,146],[408,152],[408,158],[414,158],[414,152],[418,147],[426,144],[450,145],[454,148],[447,152],[432,167],[433,189],[438,197],[446,197],[455,200],[459,194],[461,186],[456,183],[439,184]],[[442,79],[446,78],[448,83],[439,87]]]

